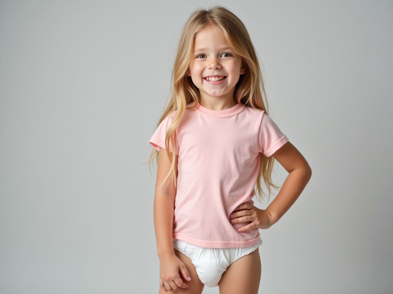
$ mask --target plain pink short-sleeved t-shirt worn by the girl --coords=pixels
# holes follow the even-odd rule
[[[157,150],[165,148],[165,133],[172,121],[168,115],[149,140]],[[232,225],[229,216],[241,203],[254,203],[260,152],[271,156],[288,138],[264,111],[241,103],[220,111],[201,104],[195,110],[186,109],[175,132],[178,176],[173,238],[201,247],[255,245],[259,230],[238,232],[250,222]]]

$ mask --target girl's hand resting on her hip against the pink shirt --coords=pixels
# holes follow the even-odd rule
[[[248,202],[244,202],[236,207],[231,213],[230,218],[232,224],[251,221],[251,223],[245,227],[238,229],[239,232],[244,232],[253,228],[268,229],[274,223],[272,215],[268,211],[259,209]]]

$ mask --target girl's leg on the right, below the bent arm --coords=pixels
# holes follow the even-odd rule
[[[222,294],[257,294],[261,281],[261,259],[258,248],[233,261],[219,282]]]

